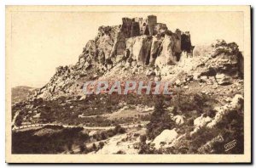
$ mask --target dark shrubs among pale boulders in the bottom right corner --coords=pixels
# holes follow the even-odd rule
[[[155,104],[155,111],[147,128],[147,137],[140,137],[139,154],[243,154],[244,152],[244,130],[243,130],[243,109],[230,111],[224,115],[223,119],[218,122],[217,126],[213,128],[201,127],[193,136],[189,132],[194,130],[193,121],[196,117],[204,114],[213,118],[216,111],[212,108],[215,100],[207,97],[206,95],[187,96],[180,98],[180,101],[172,101],[175,108],[172,110],[174,115],[185,115],[186,120],[183,126],[175,126],[180,135],[184,135],[174,146],[171,148],[154,148],[151,143],[146,143],[147,137],[154,139],[164,129],[172,129],[174,123],[165,116],[165,104],[161,99]],[[212,104],[210,104],[210,102]],[[192,108],[191,108],[192,107]],[[191,108],[191,109],[190,109]],[[197,109],[197,110],[195,110]],[[180,114],[180,111],[182,113]],[[189,113],[184,113],[184,112]],[[193,112],[195,111],[195,113]],[[169,117],[170,118],[170,117]],[[170,124],[172,123],[172,124]],[[156,128],[156,129],[154,129]],[[223,141],[212,143],[211,148],[200,150],[201,147],[211,142],[215,137],[223,137]],[[225,144],[236,141],[234,148],[225,150]]]

